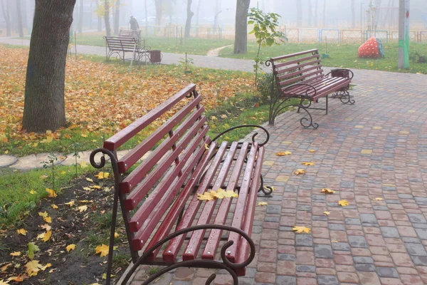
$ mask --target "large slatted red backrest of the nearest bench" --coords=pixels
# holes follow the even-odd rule
[[[132,138],[135,140],[138,133],[148,133],[117,164],[122,175],[117,183],[123,219],[134,260],[166,212],[176,212],[172,220],[179,218],[201,175],[201,158],[206,160],[206,155],[214,152],[206,150],[205,144],[211,139],[206,135],[209,128],[203,112],[201,96],[191,84],[104,142],[107,150],[115,152]],[[123,176],[144,155],[147,157]]]

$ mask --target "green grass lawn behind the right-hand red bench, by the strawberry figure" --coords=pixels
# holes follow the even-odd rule
[[[408,70],[399,70],[397,68],[397,43],[384,43],[385,57],[380,59],[358,58],[357,48],[359,44],[334,44],[328,45],[327,54],[329,58],[322,60],[323,66],[343,67],[355,69],[371,69],[379,71],[399,71],[408,73],[427,73],[427,63],[416,63],[410,60]],[[275,56],[282,56],[298,51],[307,51],[312,48],[318,48],[320,54],[326,53],[325,43],[282,43],[271,47],[261,48],[260,57],[268,60]],[[233,48],[224,48],[220,52],[220,56],[224,58],[255,58],[258,46],[254,41],[248,42],[247,54],[233,54]],[[427,43],[411,43],[410,55],[414,56],[418,53],[422,56],[427,56]]]

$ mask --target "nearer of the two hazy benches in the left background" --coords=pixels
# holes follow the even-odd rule
[[[132,36],[104,36],[105,38],[105,53],[107,61],[110,57],[116,55],[122,61],[137,61],[139,64],[144,61],[147,63],[149,52],[146,46],[142,46],[136,37]],[[132,57],[126,58],[126,54],[131,53]]]

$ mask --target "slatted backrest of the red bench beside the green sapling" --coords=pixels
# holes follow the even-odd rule
[[[324,76],[317,49],[270,58],[279,90],[286,86]]]

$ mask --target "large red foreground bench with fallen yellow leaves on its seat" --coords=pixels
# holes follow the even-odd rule
[[[165,121],[165,115],[171,112],[174,115]],[[117,160],[118,147],[159,121],[162,123],[159,128]],[[265,131],[265,140],[256,142],[258,133],[255,133],[251,142],[217,141],[236,128],[260,128]],[[97,163],[95,155],[108,155],[115,177],[107,284],[117,201],[134,264],[122,277],[124,282],[139,264],[166,266],[144,284],[180,266],[226,269],[234,284],[238,284],[238,276],[245,274],[245,267],[255,256],[250,236],[257,195],[260,191],[265,194],[272,191],[263,186],[261,176],[263,145],[268,142],[269,134],[258,125],[240,125],[211,139],[206,135],[208,130],[201,96],[191,84],[105,140],[103,147],[90,155],[90,163],[96,168],[103,167],[105,159],[102,157]],[[149,150],[152,152],[130,171]],[[124,175],[125,172],[130,173]],[[195,195],[219,188],[238,192],[238,197],[206,201]],[[223,239],[226,244],[220,247]],[[209,280],[214,278],[213,275]]]

